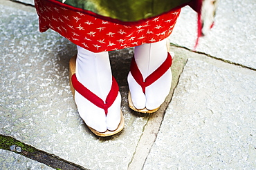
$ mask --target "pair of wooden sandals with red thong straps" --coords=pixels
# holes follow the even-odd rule
[[[111,107],[113,102],[116,100],[116,97],[118,96],[118,92],[119,92],[119,87],[118,87],[118,83],[116,82],[116,79],[112,77],[111,90],[106,98],[106,101],[104,102],[101,98],[99,98],[98,96],[93,94],[93,92],[91,92],[89,89],[84,87],[82,83],[77,81],[77,78],[75,76],[75,63],[76,63],[75,61],[76,61],[76,56],[73,56],[69,61],[69,82],[71,85],[71,91],[73,96],[75,96],[75,90],[76,90],[78,93],[84,96],[84,98],[89,100],[91,103],[100,107],[101,109],[104,109],[105,114],[107,116],[108,108]],[[167,72],[167,70],[170,69],[171,65],[172,65],[172,56],[170,55],[169,52],[167,52],[167,59],[165,59],[165,61],[162,63],[160,67],[158,67],[158,69],[156,69],[152,74],[147,76],[145,81],[143,81],[143,76],[140,70],[138,69],[138,66],[134,58],[131,60],[130,72],[131,72],[131,75],[136,80],[136,82],[138,83],[138,85],[140,85],[140,87],[143,89],[143,92],[145,94],[145,88],[149,85],[152,85],[152,83],[157,81],[158,78],[163,76],[163,74],[165,74],[165,72]],[[134,104],[132,103],[130,92],[128,95],[128,102],[129,102],[129,107],[131,109],[133,109],[134,111],[138,111],[140,113],[150,114],[150,113],[154,113],[159,109],[159,107],[153,110],[148,110],[147,108],[136,109],[136,107],[134,107]],[[105,137],[105,136],[112,136],[114,134],[117,134],[118,132],[122,131],[122,129],[125,127],[125,120],[124,120],[124,116],[122,115],[122,111],[120,111],[120,114],[121,114],[121,120],[118,125],[118,128],[115,131],[107,130],[101,133],[89,126],[88,127],[89,129],[91,129],[93,134],[97,136]]]

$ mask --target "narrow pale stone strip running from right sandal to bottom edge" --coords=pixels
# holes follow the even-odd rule
[[[140,140],[136,147],[134,156],[131,158],[131,162],[129,162],[129,170],[143,169],[145,161],[147,160],[147,156],[156,140],[158,131],[163,122],[165,110],[167,109],[169,103],[172,100],[174,89],[179,83],[179,78],[181,76],[181,73],[183,72],[183,68],[187,61],[187,58],[183,58],[181,56],[174,56],[174,63],[171,67],[173,78],[170,94],[168,94],[165,102],[161,105],[158,111],[149,115],[149,120],[147,121],[147,124],[143,129],[143,134],[140,136]]]

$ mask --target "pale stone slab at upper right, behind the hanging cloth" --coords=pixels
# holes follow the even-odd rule
[[[255,1],[219,1],[214,27],[200,39],[196,51],[255,69],[255,18]],[[196,12],[189,7],[183,8],[170,41],[192,50],[197,34],[196,22]]]

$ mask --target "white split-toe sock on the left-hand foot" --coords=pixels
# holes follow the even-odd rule
[[[108,52],[94,53],[77,46],[75,74],[77,81],[82,83],[84,87],[103,101],[106,100],[112,85]],[[118,127],[120,123],[120,102],[121,97],[118,93],[115,102],[108,109],[106,118],[104,109],[95,106],[75,91],[75,103],[81,118],[86,125],[99,132],[107,131],[107,129],[113,131]]]

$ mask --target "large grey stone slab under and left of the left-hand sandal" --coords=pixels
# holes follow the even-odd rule
[[[69,89],[75,45],[51,30],[39,33],[35,12],[0,5],[0,16],[0,134],[86,169],[127,169],[148,119],[130,111],[127,86],[120,87],[125,129],[109,138],[94,136]]]

